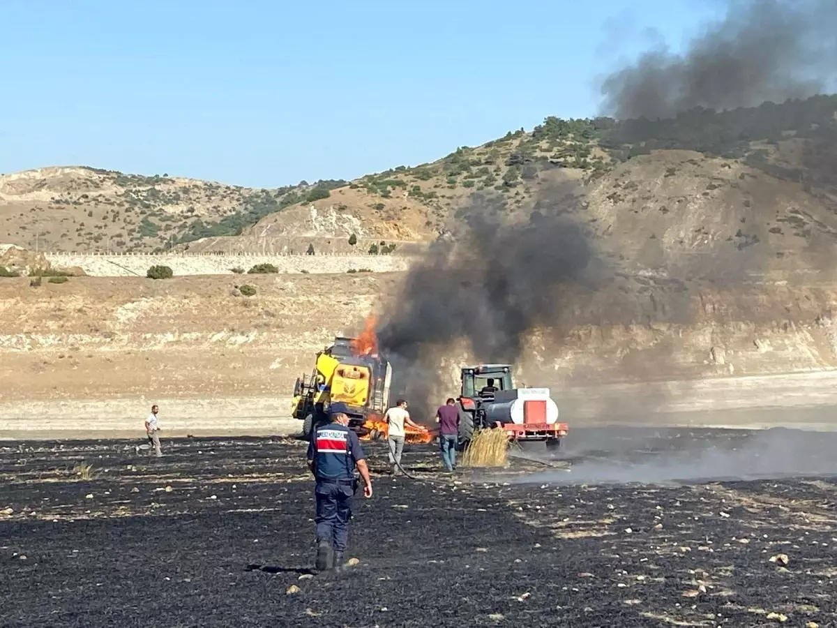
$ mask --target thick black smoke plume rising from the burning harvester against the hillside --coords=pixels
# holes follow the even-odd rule
[[[453,394],[439,390],[439,360],[461,342],[480,362],[516,363],[529,332],[567,313],[565,291],[595,283],[593,250],[567,219],[578,200],[567,189],[552,198],[528,221],[504,224],[486,218],[504,214],[492,211],[503,201],[475,194],[459,233],[413,266],[377,329],[403,377],[393,388],[419,404]]]

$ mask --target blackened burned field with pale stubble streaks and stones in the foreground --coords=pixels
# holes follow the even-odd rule
[[[614,437],[610,459],[625,471],[752,439],[652,431]],[[159,460],[127,441],[6,444],[0,625],[837,624],[837,477],[587,481],[608,438],[575,434],[551,466],[454,477],[433,445],[408,445],[416,480],[383,475],[383,446],[367,445],[357,564],[331,575],[310,570],[299,442],[164,441]]]

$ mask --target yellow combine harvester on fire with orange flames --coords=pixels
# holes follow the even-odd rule
[[[349,409],[349,428],[362,440],[386,438],[388,426],[383,416],[389,407],[389,389],[393,368],[377,350],[374,319],[357,338],[335,337],[331,347],[316,356],[311,378],[296,379],[291,414],[303,421],[306,440],[322,423],[331,403],[341,402]],[[406,430],[406,441],[423,443],[433,440],[430,431]]]

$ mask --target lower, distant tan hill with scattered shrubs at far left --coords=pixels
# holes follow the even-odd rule
[[[91,167],[0,175],[0,242],[31,250],[150,252],[245,226],[341,181],[250,189]]]

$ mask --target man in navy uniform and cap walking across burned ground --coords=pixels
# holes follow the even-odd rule
[[[363,496],[372,497],[372,480],[360,440],[349,430],[345,404],[331,404],[329,423],[311,435],[308,468],[316,478],[316,569],[340,568],[349,540],[352,499],[357,490],[355,467],[363,478]]]

